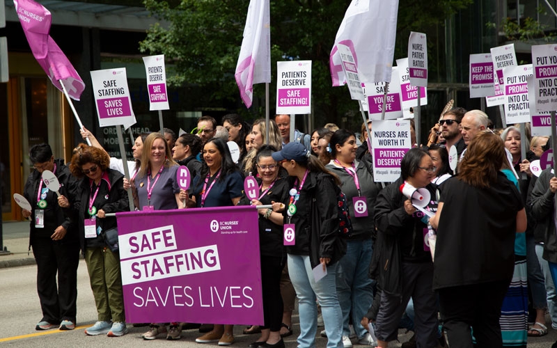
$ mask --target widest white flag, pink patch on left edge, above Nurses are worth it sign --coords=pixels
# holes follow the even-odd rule
[[[398,0],[352,0],[331,50],[333,86],[346,83],[339,43],[350,47],[362,82],[391,81],[397,14]]]

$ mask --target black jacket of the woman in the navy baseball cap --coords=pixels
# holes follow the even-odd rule
[[[288,187],[294,187],[295,177],[288,178]],[[287,246],[292,255],[309,255],[311,267],[320,258],[330,258],[333,264],[346,253],[346,242],[338,235],[338,200],[340,188],[333,177],[325,173],[308,173],[308,177],[296,203],[297,212],[290,223],[296,226],[296,245]],[[288,209],[288,199],[283,202]],[[285,222],[288,223],[287,209]]]

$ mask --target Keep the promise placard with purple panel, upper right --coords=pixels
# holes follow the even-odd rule
[[[495,94],[493,81],[493,61],[489,53],[470,55],[470,97],[489,97]]]

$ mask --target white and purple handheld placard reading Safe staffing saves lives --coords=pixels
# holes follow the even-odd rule
[[[136,122],[125,68],[94,70],[91,81],[100,127]]]

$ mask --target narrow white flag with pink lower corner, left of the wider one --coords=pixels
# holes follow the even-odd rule
[[[247,107],[253,100],[253,84],[271,82],[271,29],[269,0],[250,0],[244,40],[236,65],[236,83]]]

